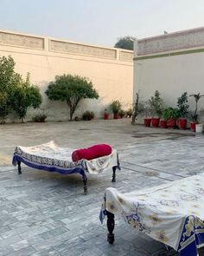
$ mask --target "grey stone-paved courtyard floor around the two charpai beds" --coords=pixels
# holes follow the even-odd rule
[[[88,176],[83,195],[80,175],[50,174],[11,167],[16,145],[54,139],[61,147],[110,143],[118,148],[122,170]],[[0,256],[3,255],[177,255],[161,243],[116,220],[113,245],[99,210],[106,187],[130,192],[175,181],[204,170],[204,136],[189,131],[131,126],[130,120],[48,122],[0,127]]]

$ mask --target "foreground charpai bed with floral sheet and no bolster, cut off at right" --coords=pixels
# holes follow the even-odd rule
[[[100,211],[107,215],[108,242],[114,242],[114,215],[181,256],[197,256],[204,246],[204,174],[121,194],[109,187]]]

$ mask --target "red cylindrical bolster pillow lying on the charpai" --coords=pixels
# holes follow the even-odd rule
[[[112,147],[106,144],[94,145],[90,148],[82,148],[73,151],[73,161],[80,161],[81,159],[92,160],[101,156],[112,153]]]

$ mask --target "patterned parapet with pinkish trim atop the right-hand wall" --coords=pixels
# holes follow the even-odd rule
[[[163,36],[153,36],[137,41],[137,56],[145,56],[176,49],[204,47],[204,27],[183,30]]]

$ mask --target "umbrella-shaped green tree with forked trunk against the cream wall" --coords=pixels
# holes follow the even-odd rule
[[[45,92],[50,100],[67,102],[70,108],[70,121],[82,99],[98,99],[99,94],[93,89],[92,82],[80,75],[56,75]]]

